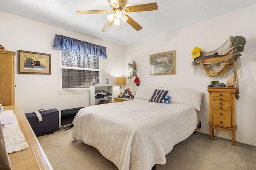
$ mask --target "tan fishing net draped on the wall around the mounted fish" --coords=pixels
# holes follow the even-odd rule
[[[233,53],[232,39],[233,39],[233,36],[230,36],[230,38],[222,46],[220,46],[218,49],[216,49],[214,51],[210,51],[210,52],[201,51],[200,57],[214,55],[214,53],[216,53],[216,52],[219,55],[228,55],[230,53]],[[230,64],[229,64],[230,68],[228,68],[228,70],[226,70],[226,72],[224,74],[221,74],[221,75],[218,74],[213,77],[208,76],[208,74],[206,73],[206,70],[203,69],[204,66],[202,66],[202,65],[192,65],[192,67],[194,67],[194,74],[196,76],[198,76],[198,75],[205,76],[207,78],[210,78],[211,80],[222,80],[222,79],[228,78],[228,76],[230,76],[230,75],[233,75],[236,78],[236,68],[235,68],[235,63],[236,63],[238,78],[242,78],[242,68],[241,68],[240,57],[236,57],[236,61],[235,62],[233,62],[233,61],[230,61]],[[228,63],[225,63],[225,64],[228,64]],[[220,69],[222,69],[221,64],[212,64],[209,66],[209,70],[212,70],[212,72],[218,72],[218,71],[220,71]]]

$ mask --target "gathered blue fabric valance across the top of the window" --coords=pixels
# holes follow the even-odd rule
[[[70,38],[70,37],[65,37],[63,35],[56,34],[53,47],[57,47],[60,50],[70,49],[71,51],[76,50],[77,52],[80,52],[80,53],[98,55],[105,59],[108,58],[106,47],[102,47],[100,45],[95,45],[92,43],[88,43],[88,42]]]

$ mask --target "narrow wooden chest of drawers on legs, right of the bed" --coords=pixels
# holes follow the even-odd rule
[[[210,140],[214,129],[232,133],[232,146],[236,136],[236,88],[208,88]]]

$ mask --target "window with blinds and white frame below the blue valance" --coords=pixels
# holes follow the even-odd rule
[[[92,79],[101,80],[102,57],[61,50],[61,89],[90,88]]]

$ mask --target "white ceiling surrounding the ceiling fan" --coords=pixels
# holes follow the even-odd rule
[[[158,10],[124,12],[143,27],[140,31],[136,31],[128,23],[120,22],[122,28],[118,31],[113,24],[108,32],[102,32],[108,14],[76,14],[80,10],[111,10],[108,0],[0,0],[0,10],[116,44],[128,45],[255,4],[256,0],[128,0],[126,6],[152,2],[157,2]]]

